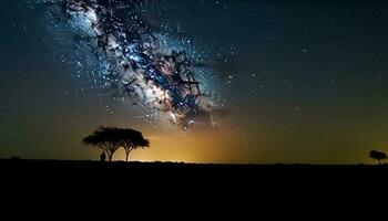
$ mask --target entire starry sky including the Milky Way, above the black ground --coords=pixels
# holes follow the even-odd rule
[[[98,159],[80,140],[112,126],[150,138],[136,160],[372,164],[387,21],[370,0],[0,1],[0,158]]]

